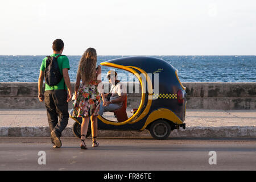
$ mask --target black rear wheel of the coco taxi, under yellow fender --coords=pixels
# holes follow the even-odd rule
[[[171,133],[171,126],[167,121],[156,120],[150,126],[150,134],[153,138],[163,140],[167,139]]]

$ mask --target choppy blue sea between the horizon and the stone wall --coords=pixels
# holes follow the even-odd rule
[[[0,82],[37,82],[43,56],[0,56]],[[97,64],[127,56],[97,56]],[[181,82],[255,82],[256,56],[148,56],[170,63],[178,70]],[[81,56],[68,56],[69,77],[76,81]],[[110,67],[102,67],[106,75]],[[129,72],[115,69],[122,81],[138,81]],[[102,80],[104,80],[102,78]]]

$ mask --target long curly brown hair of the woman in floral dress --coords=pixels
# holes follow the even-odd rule
[[[96,80],[96,63],[96,49],[86,49],[80,59],[79,68],[77,70],[77,75],[80,74],[83,84],[88,84],[90,81]]]

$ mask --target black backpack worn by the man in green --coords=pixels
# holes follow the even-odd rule
[[[57,85],[60,82],[60,80],[63,78],[63,75],[61,75],[59,65],[57,63],[57,59],[60,56],[64,56],[64,55],[57,55],[56,57],[47,56],[46,69],[44,70],[44,76],[46,77],[46,83],[49,86]]]

